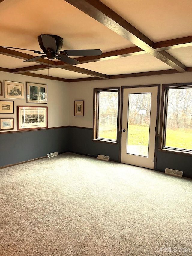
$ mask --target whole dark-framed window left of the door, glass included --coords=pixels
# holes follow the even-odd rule
[[[120,87],[94,89],[93,140],[118,143]]]

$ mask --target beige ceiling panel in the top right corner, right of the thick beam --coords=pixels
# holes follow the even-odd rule
[[[191,0],[101,0],[152,41],[192,35]]]

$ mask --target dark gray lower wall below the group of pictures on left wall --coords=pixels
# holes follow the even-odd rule
[[[68,151],[68,127],[0,134],[0,167]]]

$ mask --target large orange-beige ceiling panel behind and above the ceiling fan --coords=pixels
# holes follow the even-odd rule
[[[133,46],[63,0],[7,0],[1,3],[0,13],[1,46],[41,50],[41,33],[61,36],[62,50],[93,48],[107,52]]]

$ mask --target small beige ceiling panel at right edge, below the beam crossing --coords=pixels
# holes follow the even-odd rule
[[[192,67],[192,46],[167,50],[167,52],[182,62],[186,67]]]

